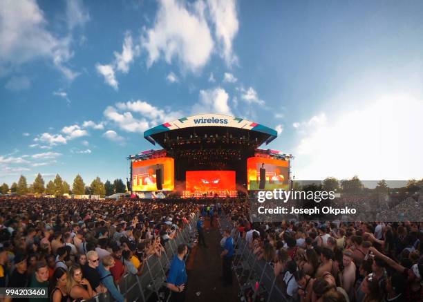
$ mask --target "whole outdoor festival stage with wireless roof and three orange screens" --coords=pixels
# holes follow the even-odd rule
[[[274,129],[239,117],[194,115],[144,132],[159,150],[129,155],[131,192],[160,198],[236,197],[259,189],[288,189],[292,155],[259,149]]]

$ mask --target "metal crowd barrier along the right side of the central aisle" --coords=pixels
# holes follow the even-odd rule
[[[235,272],[243,301],[256,301],[256,299],[267,302],[290,301],[290,297],[276,281],[273,264],[263,259],[259,260],[254,255],[245,238],[229,219],[224,215],[220,227],[221,231],[225,229],[232,231],[231,236],[235,242],[232,269]]]

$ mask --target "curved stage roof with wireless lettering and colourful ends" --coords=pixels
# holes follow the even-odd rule
[[[198,127],[209,127],[216,129],[230,128],[241,129],[241,131],[252,131],[252,133],[260,134],[265,144],[269,144],[277,137],[277,132],[267,126],[245,120],[241,117],[234,117],[230,115],[205,113],[199,115],[192,115],[189,117],[182,117],[178,120],[173,120],[144,132],[144,138],[152,144],[162,145],[162,138],[164,133],[179,133],[186,132],[188,129],[197,129]],[[181,130],[185,129],[185,130]],[[212,129],[211,129],[212,131]],[[211,132],[213,133],[213,132]]]

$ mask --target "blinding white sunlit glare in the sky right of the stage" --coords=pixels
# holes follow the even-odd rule
[[[330,118],[321,113],[299,122],[296,178],[422,178],[423,142],[415,132],[423,129],[422,112],[422,99],[389,95]]]

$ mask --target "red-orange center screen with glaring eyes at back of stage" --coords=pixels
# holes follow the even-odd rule
[[[235,171],[187,171],[187,191],[234,191]]]

